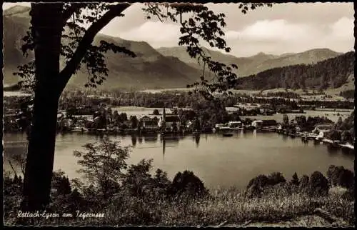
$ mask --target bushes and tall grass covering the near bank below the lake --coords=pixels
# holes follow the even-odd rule
[[[288,181],[283,174],[275,172],[252,179],[243,192],[235,188],[208,191],[191,171],[178,172],[171,181],[161,169],[151,174],[151,160],[126,165],[123,159],[128,156],[129,149],[119,143],[106,140],[86,147],[87,152],[76,152],[76,156],[83,156],[80,160],[82,172],[89,181],[86,184],[79,179],[69,181],[64,172],[56,171],[52,179],[51,204],[46,209],[47,213],[69,213],[73,217],[16,218],[23,181],[17,176],[5,175],[5,224],[205,226],[223,221],[229,224],[276,222],[313,214],[316,208],[341,217],[347,226],[354,224],[354,184],[346,182],[350,175],[347,169],[344,169],[347,176],[336,176],[343,173],[333,169],[341,167],[330,166],[328,179],[316,171],[301,179],[294,174]],[[121,166],[114,164],[118,162]],[[342,196],[329,192],[333,184],[328,181],[336,177],[336,185],[345,187]],[[104,217],[77,216],[78,212],[102,213]]]

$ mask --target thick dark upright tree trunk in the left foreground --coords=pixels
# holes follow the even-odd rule
[[[44,209],[49,203],[61,95],[58,87],[61,8],[62,4],[31,4],[36,87],[24,175],[23,209],[26,211]]]

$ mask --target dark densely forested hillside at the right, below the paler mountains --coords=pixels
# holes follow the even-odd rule
[[[237,80],[236,89],[328,89],[346,83],[354,71],[354,51],[316,64],[268,69]]]

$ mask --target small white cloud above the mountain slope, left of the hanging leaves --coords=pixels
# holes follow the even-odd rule
[[[160,44],[172,44],[177,46],[178,37],[180,35],[180,26],[170,23],[162,23],[160,21],[146,21],[141,26],[125,31],[119,36],[122,39],[134,41],[147,41],[154,47],[161,46]]]

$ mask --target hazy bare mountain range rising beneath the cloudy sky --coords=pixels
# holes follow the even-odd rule
[[[30,25],[29,11],[29,7],[14,6],[3,12],[4,84],[14,84],[21,80],[12,73],[17,71],[17,66],[25,64],[34,57],[33,54],[29,54],[25,58],[20,50],[21,38],[26,34]],[[183,46],[154,49],[145,41],[129,41],[104,34],[98,34],[94,39],[94,44],[98,44],[101,40],[125,46],[126,49],[136,54],[135,58],[124,54],[114,54],[111,51],[105,54],[109,76],[102,84],[102,89],[181,88],[199,79],[202,66],[188,56]],[[330,49],[312,49],[298,54],[271,55],[260,52],[250,57],[236,57],[220,51],[206,48],[204,50],[215,61],[236,64],[238,66],[236,74],[240,77],[282,66],[313,64],[341,55]],[[61,59],[61,66],[64,66],[63,59]],[[69,87],[84,87],[87,79],[86,69],[81,68],[75,76],[72,76]]]

